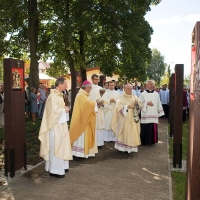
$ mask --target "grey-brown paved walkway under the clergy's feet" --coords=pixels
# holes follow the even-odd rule
[[[106,143],[95,158],[71,161],[65,178],[50,177],[44,163],[0,188],[0,199],[15,200],[171,200],[167,123],[159,143],[122,153]]]

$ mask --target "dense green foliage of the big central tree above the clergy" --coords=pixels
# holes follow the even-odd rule
[[[144,19],[150,4],[159,1],[48,1],[53,10],[45,25],[48,49],[55,62],[66,63],[70,70],[100,66],[104,75],[118,73],[127,79],[145,79],[152,28]],[[66,65],[59,65],[62,71]],[[58,69],[58,68],[57,68]]]

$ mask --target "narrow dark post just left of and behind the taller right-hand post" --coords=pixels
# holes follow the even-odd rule
[[[170,137],[174,135],[174,77],[173,73],[170,77],[170,88],[169,88],[169,124],[170,124]]]

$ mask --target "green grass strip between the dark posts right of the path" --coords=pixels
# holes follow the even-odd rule
[[[182,127],[182,158],[187,160],[187,146],[188,146],[188,121],[183,123]],[[170,159],[173,158],[173,138],[169,138],[169,154]],[[172,189],[174,200],[184,200],[186,191],[186,173],[185,172],[171,172],[172,175]]]

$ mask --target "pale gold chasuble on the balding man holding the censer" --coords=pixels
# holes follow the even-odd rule
[[[127,95],[125,92],[120,95],[114,109],[114,114],[111,123],[111,129],[116,135],[118,141],[123,142],[128,146],[138,146],[140,142],[140,122],[134,121],[133,109],[124,110],[125,106],[134,104],[137,100],[139,107],[142,103],[136,95]],[[124,114],[123,114],[124,112]]]

